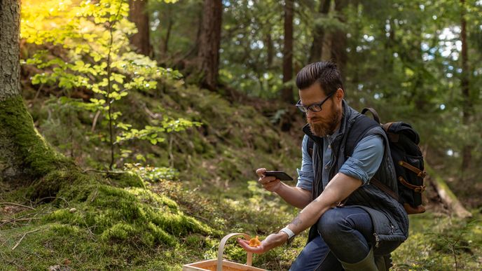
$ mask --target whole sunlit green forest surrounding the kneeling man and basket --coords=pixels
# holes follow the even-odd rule
[[[0,3],[2,270],[180,270],[279,230],[296,210],[254,169],[296,176],[294,76],[319,60],[354,109],[420,132],[428,211],[394,269],[481,269],[482,1]]]

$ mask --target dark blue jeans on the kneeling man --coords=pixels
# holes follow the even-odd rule
[[[343,270],[339,260],[358,263],[375,241],[370,215],[359,207],[329,209],[319,218],[317,230],[319,236],[306,244],[290,271]]]

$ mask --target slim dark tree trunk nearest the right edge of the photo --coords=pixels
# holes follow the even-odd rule
[[[461,16],[460,16],[460,41],[462,41],[462,76],[460,78],[460,86],[462,87],[462,113],[463,113],[463,123],[466,126],[471,125],[473,104],[470,99],[470,88],[469,88],[469,59],[467,56],[467,22],[465,20],[465,0],[460,0],[461,4]],[[470,168],[470,162],[472,160],[471,151],[474,147],[471,144],[464,144],[462,147],[462,178],[464,172]]]

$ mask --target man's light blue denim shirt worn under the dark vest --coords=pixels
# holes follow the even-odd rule
[[[331,143],[338,135],[339,130],[332,135],[324,137],[323,140],[323,165],[328,169],[331,163]],[[296,169],[298,172],[298,183],[296,186],[305,190],[312,189],[313,182],[313,165],[311,155],[308,153],[308,136],[305,135],[303,143],[301,144],[301,169]],[[353,155],[348,158],[340,168],[339,172],[359,179],[362,185],[369,182],[371,177],[375,175],[383,160],[383,138],[378,134],[372,134],[369,137],[361,139],[357,146],[355,146]],[[329,180],[328,170],[324,170],[323,179]],[[328,183],[323,183],[326,187]]]

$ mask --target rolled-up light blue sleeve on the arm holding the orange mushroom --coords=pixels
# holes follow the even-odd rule
[[[383,138],[379,134],[365,137],[355,146],[353,155],[345,161],[339,172],[366,184],[380,167],[383,151]]]

